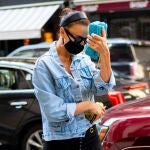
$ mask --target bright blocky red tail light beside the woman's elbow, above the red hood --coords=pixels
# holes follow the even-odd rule
[[[125,102],[124,96],[119,91],[112,91],[107,94],[110,102],[112,103],[112,106],[122,104]]]

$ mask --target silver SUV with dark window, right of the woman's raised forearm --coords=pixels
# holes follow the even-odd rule
[[[112,68],[131,79],[150,79],[150,41],[109,38]]]

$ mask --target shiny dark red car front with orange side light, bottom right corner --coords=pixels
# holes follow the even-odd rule
[[[150,97],[108,109],[100,125],[103,150],[150,150]]]

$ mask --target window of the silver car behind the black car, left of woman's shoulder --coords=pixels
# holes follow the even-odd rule
[[[38,49],[26,49],[22,50],[13,56],[19,56],[19,57],[39,57],[45,52],[47,52],[49,48],[38,48]]]

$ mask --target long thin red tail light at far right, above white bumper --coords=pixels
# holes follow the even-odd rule
[[[146,82],[141,82],[133,85],[126,85],[122,87],[123,89],[126,90],[131,90],[131,89],[143,89],[143,88],[148,88],[148,83]]]

